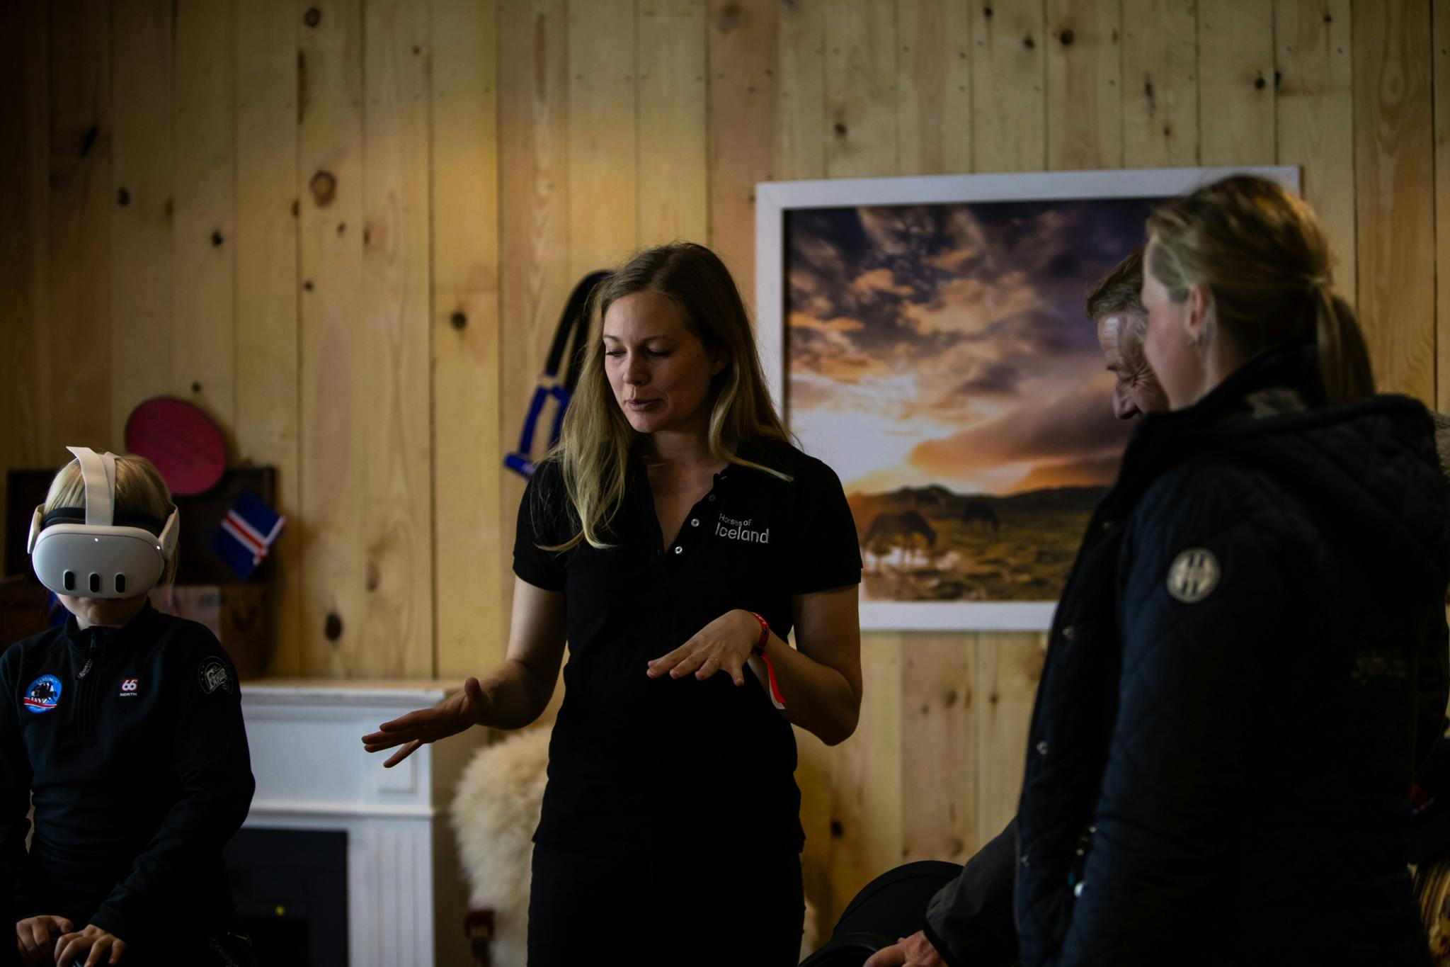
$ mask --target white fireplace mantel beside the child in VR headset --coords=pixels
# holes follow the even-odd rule
[[[484,742],[471,729],[423,745],[393,768],[361,736],[405,712],[435,705],[457,684],[242,683],[242,715],[257,794],[255,829],[332,829],[348,835],[351,967],[465,967],[467,887],[448,826],[458,773]]]

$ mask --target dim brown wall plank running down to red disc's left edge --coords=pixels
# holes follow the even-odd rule
[[[158,333],[173,331],[171,0],[119,3],[112,12],[110,438],[151,396],[173,393]]]

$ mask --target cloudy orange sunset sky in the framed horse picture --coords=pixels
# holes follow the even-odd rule
[[[789,212],[792,431],[848,493],[1111,484],[1131,423],[1083,297],[1151,204]]]

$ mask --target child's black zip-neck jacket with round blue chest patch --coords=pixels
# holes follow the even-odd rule
[[[125,628],[71,618],[0,657],[0,700],[12,922],[59,915],[136,944],[229,921],[222,847],[255,783],[236,673],[206,626],[149,603]]]

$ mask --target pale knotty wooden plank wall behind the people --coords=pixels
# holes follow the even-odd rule
[[[0,464],[191,399],[278,468],[274,673],[480,671],[571,283],[690,238],[751,293],[757,181],[893,174],[1301,165],[1383,386],[1447,407],[1447,0],[0,4]],[[1011,816],[1044,648],[867,638],[858,734],[800,738],[826,924]]]

